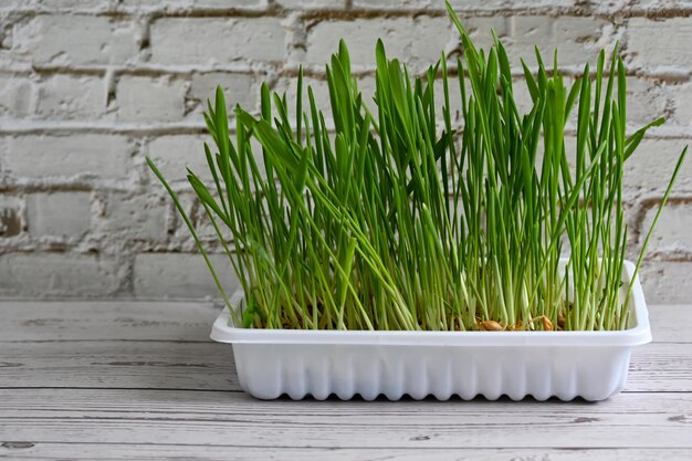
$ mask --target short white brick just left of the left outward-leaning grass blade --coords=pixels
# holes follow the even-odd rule
[[[108,240],[160,241],[166,238],[168,197],[127,192],[99,193],[93,230]]]

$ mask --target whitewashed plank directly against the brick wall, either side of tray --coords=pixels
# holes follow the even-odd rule
[[[650,306],[654,342],[692,343],[692,306]],[[220,307],[177,301],[0,301],[0,342],[207,340]]]

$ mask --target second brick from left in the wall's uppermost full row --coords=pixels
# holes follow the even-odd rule
[[[213,65],[283,61],[286,31],[279,18],[162,18],[151,24],[151,62]]]

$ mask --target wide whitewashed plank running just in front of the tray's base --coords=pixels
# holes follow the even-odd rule
[[[4,404],[0,420],[2,440],[294,448],[692,448],[688,394],[627,394],[597,405],[325,405],[262,402],[237,392],[65,389],[46,397],[48,391],[3,391],[2,400],[11,404]],[[52,404],[36,409],[42,395]],[[130,411],[133,406],[140,408]]]

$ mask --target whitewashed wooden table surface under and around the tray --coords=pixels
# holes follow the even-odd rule
[[[211,303],[0,302],[0,459],[692,460],[692,306],[607,401],[261,401]]]

